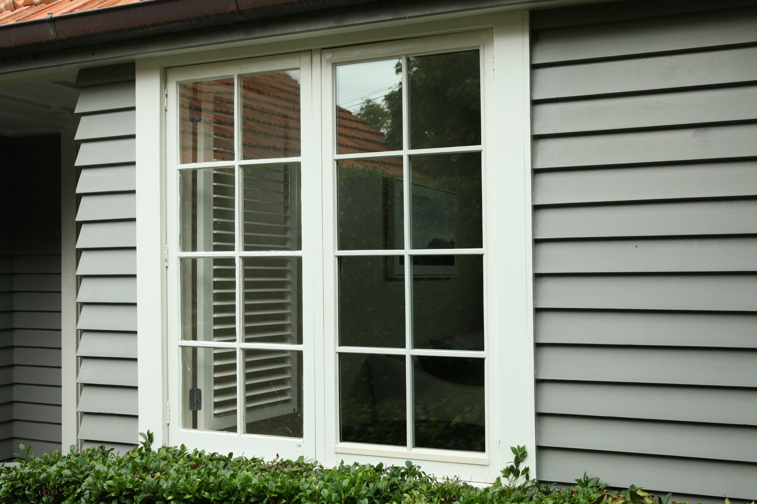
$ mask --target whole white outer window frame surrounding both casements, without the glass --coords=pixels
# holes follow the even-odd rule
[[[184,442],[190,447],[222,453],[245,453],[247,456],[301,454],[318,459],[325,465],[333,465],[341,459],[344,462],[383,461],[395,464],[403,464],[410,459],[435,475],[460,475],[470,481],[491,481],[499,474],[499,469],[511,460],[509,446],[526,444],[531,453],[527,463],[530,462],[533,469],[536,450],[528,44],[528,12],[500,9],[484,14],[474,11],[470,15],[456,15],[454,18],[381,23],[370,28],[357,26],[349,30],[319,33],[310,38],[272,38],[259,41],[256,45],[239,42],[223,49],[200,48],[184,54],[137,60],[139,430],[149,428],[156,432],[157,443]],[[331,126],[334,120],[331,88],[334,63],[381,59],[390,53],[429,54],[474,47],[482,50],[485,354],[488,359],[486,452],[438,453],[440,450],[339,443],[334,271],[338,252],[335,247],[332,169],[335,162],[332,148],[335,130]],[[238,442],[248,437],[257,438],[256,441],[264,438],[252,434],[206,434],[195,431],[189,433],[198,434],[190,436],[191,441],[177,438],[179,412],[173,410],[176,397],[171,399],[172,390],[176,391],[177,385],[176,377],[170,373],[169,362],[176,357],[177,305],[174,296],[177,292],[178,255],[176,234],[167,225],[170,222],[168,214],[173,212],[171,209],[176,205],[176,186],[169,181],[170,172],[175,168],[168,162],[166,153],[167,148],[172,148],[169,147],[170,118],[176,110],[171,110],[173,102],[170,96],[168,100],[165,96],[164,90],[169,89],[169,95],[173,92],[167,73],[178,71],[174,67],[183,67],[185,70],[182,71],[189,72],[192,71],[188,70],[190,65],[200,64],[228,69],[240,65],[239,60],[245,58],[281,54],[280,57],[271,57],[276,60],[292,57],[306,49],[309,50],[308,58],[312,57],[310,103],[315,119],[310,130],[313,149],[310,155],[304,155],[302,159],[303,177],[307,162],[313,174],[310,182],[318,190],[306,189],[303,181],[302,198],[304,215],[309,209],[313,212],[313,219],[322,222],[319,233],[313,233],[309,239],[313,250],[310,271],[306,272],[303,267],[304,276],[312,277],[312,303],[305,310],[304,317],[313,328],[310,342],[307,331],[304,339],[304,345],[312,345],[313,356],[312,368],[304,379],[304,409],[310,408],[312,430],[309,433],[306,423],[304,440],[291,440],[291,451],[282,450],[281,441],[286,441],[282,438],[270,438],[270,444],[265,439],[256,444]],[[213,61],[219,63],[210,63]],[[278,63],[274,66],[273,70],[290,68]],[[244,70],[241,72],[244,73]],[[197,80],[229,76],[231,73],[229,70],[203,71]],[[192,77],[187,76],[187,79]],[[304,91],[302,96],[305,107],[309,98]],[[382,156],[385,155],[382,153]],[[260,162],[275,161],[266,159]],[[294,162],[294,159],[287,161]],[[309,191],[311,195],[320,195],[319,198],[316,200],[316,196],[307,196]],[[306,209],[307,198],[310,200]],[[303,243],[305,241],[303,236]],[[168,267],[165,267],[166,258]],[[172,406],[168,407],[168,403]]]

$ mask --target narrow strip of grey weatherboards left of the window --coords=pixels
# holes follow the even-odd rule
[[[76,105],[82,114],[76,130],[82,142],[76,157],[79,440],[120,452],[138,441],[136,101],[134,81],[125,75],[134,75],[133,65],[79,73],[86,87]]]

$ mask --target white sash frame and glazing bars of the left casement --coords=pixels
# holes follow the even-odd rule
[[[313,334],[315,324],[312,322],[314,310],[313,304],[313,262],[316,258],[313,255],[312,234],[315,230],[321,227],[319,215],[315,212],[301,212],[303,225],[301,247],[299,250],[289,251],[286,249],[280,251],[248,251],[246,247],[246,235],[245,233],[245,219],[241,218],[245,214],[246,207],[245,202],[245,187],[243,180],[245,178],[244,169],[246,167],[257,166],[264,168],[266,165],[279,165],[279,164],[298,164],[301,165],[302,185],[313,187],[317,185],[318,178],[317,169],[314,169],[311,159],[313,155],[310,152],[313,150],[312,141],[312,100],[310,99],[311,89],[310,82],[312,82],[311,76],[311,54],[310,51],[294,53],[294,54],[282,54],[276,56],[266,56],[250,58],[245,60],[235,60],[219,63],[205,63],[195,66],[182,66],[178,68],[172,68],[167,71],[167,104],[168,109],[171,111],[167,114],[167,308],[168,308],[168,345],[167,345],[167,359],[168,359],[168,383],[169,383],[169,404],[170,410],[176,416],[173,422],[170,422],[169,431],[170,437],[175,439],[176,444],[185,444],[187,446],[205,447],[207,450],[218,451],[220,453],[238,452],[252,454],[260,453],[260,456],[266,458],[273,458],[278,453],[280,456],[286,458],[296,459],[298,456],[304,453],[312,453],[314,451],[315,442],[315,415],[314,415],[314,382],[313,379],[315,370],[314,366],[314,342],[316,336]],[[243,113],[241,105],[241,81],[244,76],[254,76],[260,74],[269,73],[282,73],[288,71],[298,71],[301,81],[301,152],[302,156],[285,157],[285,158],[263,158],[263,159],[243,159],[243,138],[242,138],[242,120]],[[234,82],[234,152],[235,156],[232,160],[226,161],[210,161],[210,162],[182,162],[181,153],[179,148],[179,85],[182,83],[191,82],[205,82],[213,81],[216,79],[233,79]],[[206,117],[212,114],[213,111],[203,111]],[[205,122],[200,122],[201,125],[210,125],[213,128],[213,123],[207,123],[207,119],[203,119]],[[206,126],[207,127],[207,126]],[[201,139],[198,139],[197,148],[202,149]],[[214,145],[214,144],[213,144]],[[207,147],[207,146],[206,146]],[[317,162],[316,162],[317,164]],[[205,170],[204,170],[205,169]],[[179,195],[179,187],[182,182],[179,181],[179,174],[188,173],[191,171],[198,171],[198,196],[202,199],[198,199],[197,212],[198,215],[201,212],[209,212],[210,206],[216,205],[215,193],[202,195],[203,191],[207,191],[210,187],[217,186],[218,181],[210,181],[210,172],[207,169],[227,169],[232,172],[230,175],[225,175],[223,182],[232,185],[234,191],[234,207],[232,209],[235,215],[234,221],[234,244],[232,251],[222,252],[185,252],[180,249],[179,236],[183,230],[179,229],[182,219],[185,215],[182,215],[180,208],[181,201]],[[207,180],[203,180],[207,179]],[[235,181],[235,182],[234,182]],[[215,190],[213,188],[213,190]],[[182,196],[187,197],[187,195]],[[302,206],[304,209],[309,209],[312,206],[313,192],[302,191],[301,201],[296,202],[295,206]],[[211,203],[211,199],[213,202]],[[246,217],[245,217],[246,218]],[[213,221],[216,219],[213,218]],[[198,232],[202,227],[203,221],[198,218]],[[210,220],[205,221],[205,224],[210,224]],[[202,231],[205,235],[210,237],[214,232],[210,229]],[[216,240],[213,235],[211,240]],[[235,262],[235,299],[228,302],[233,302],[235,306],[235,326],[236,334],[239,336],[237,341],[224,341],[224,340],[208,340],[198,338],[197,341],[188,341],[182,339],[180,328],[186,321],[182,317],[186,317],[186,314],[181,313],[179,305],[181,304],[181,297],[185,295],[188,285],[182,284],[182,279],[179,271],[181,270],[180,261],[182,259],[192,258],[222,258],[233,259]],[[301,258],[303,264],[304,274],[302,275],[302,297],[303,297],[303,326],[304,330],[303,342],[297,343],[260,343],[260,342],[245,342],[245,258]],[[205,292],[209,289],[215,289],[212,283],[217,280],[220,274],[216,271],[210,271],[207,261],[202,262],[204,266],[198,265],[197,279],[198,289]],[[218,267],[213,265],[213,270]],[[207,270],[204,273],[201,270]],[[213,280],[208,277],[211,274]],[[204,278],[204,280],[202,280]],[[200,283],[205,285],[200,285]],[[215,292],[215,291],[213,291]],[[199,295],[199,294],[198,294]],[[215,299],[215,298],[213,298]],[[204,325],[201,326],[201,317],[217,317],[217,314],[210,309],[210,298],[207,295],[204,297],[202,307],[198,302],[198,333],[201,329],[205,329],[210,326],[215,326],[215,320],[207,320]],[[213,303],[215,304],[215,303]],[[214,329],[213,329],[214,330]],[[207,355],[203,357],[201,348],[213,348],[211,353],[213,354],[213,363],[210,366],[198,366],[198,380],[203,382],[204,386],[201,390],[204,392],[202,398],[202,407],[198,411],[199,421],[196,428],[188,428],[186,425],[182,425],[182,415],[186,414],[188,404],[186,404],[185,397],[182,397],[182,388],[185,388],[185,383],[182,383],[182,373],[188,368],[189,364],[182,354],[182,349],[196,348],[198,354],[198,363],[203,358],[208,358]],[[279,438],[269,435],[261,434],[246,434],[245,433],[245,414],[247,412],[247,393],[246,385],[249,385],[246,376],[246,363],[245,357],[247,355],[246,350],[268,350],[268,351],[284,351],[291,352],[291,354],[299,353],[302,355],[302,363],[304,368],[304,388],[302,391],[303,399],[303,411],[304,413],[304,437],[303,438]],[[218,388],[217,382],[214,381],[213,376],[217,376],[217,357],[218,352],[224,352],[224,355],[234,354],[236,358],[235,367],[235,407],[224,406],[226,410],[233,408],[235,411],[235,420],[233,425],[232,419],[228,416],[216,415],[216,392],[214,389]],[[218,357],[220,361],[225,361],[223,358]],[[290,363],[290,372],[297,367],[296,363]],[[296,376],[290,378],[291,382],[296,382]],[[250,385],[253,386],[253,385]],[[211,393],[212,391],[212,393]],[[296,395],[296,385],[291,385],[291,391]],[[212,398],[211,398],[212,397]],[[292,397],[296,404],[296,397]],[[282,405],[283,406],[283,405]],[[221,428],[235,427],[235,432],[220,431]]]

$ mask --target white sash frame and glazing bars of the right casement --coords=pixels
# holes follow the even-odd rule
[[[454,450],[434,450],[428,448],[413,447],[413,358],[414,356],[444,356],[444,357],[480,357],[484,359],[484,403],[486,407],[486,416],[491,412],[492,396],[496,387],[491,386],[489,374],[492,369],[488,359],[488,344],[484,344],[484,351],[439,351],[413,348],[413,329],[411,313],[412,294],[410,278],[413,274],[410,271],[411,255],[479,255],[484,258],[484,341],[491,333],[488,316],[492,313],[490,306],[492,299],[486,276],[488,271],[494,267],[494,264],[488,264],[491,254],[487,253],[487,238],[491,234],[488,229],[488,212],[486,211],[487,198],[484,196],[484,212],[482,212],[484,243],[481,249],[416,249],[410,246],[410,190],[403,190],[403,243],[404,248],[401,250],[339,250],[338,248],[338,224],[337,224],[337,186],[336,181],[336,164],[342,159],[380,159],[380,158],[401,158],[403,159],[403,184],[407,187],[410,184],[410,156],[422,154],[441,154],[441,153],[480,153],[481,154],[481,190],[484,190],[488,181],[488,174],[494,169],[492,156],[489,156],[488,141],[485,132],[489,129],[489,114],[486,113],[485,107],[481,107],[481,129],[482,144],[469,145],[463,147],[439,147],[430,149],[413,150],[410,148],[410,124],[408,119],[408,85],[407,85],[407,58],[413,56],[422,56],[428,54],[444,54],[458,51],[479,51],[481,58],[481,104],[487,104],[491,99],[491,64],[492,61],[492,30],[484,29],[470,32],[450,33],[441,36],[429,36],[418,39],[406,39],[394,42],[378,42],[376,44],[360,45],[357,47],[336,48],[322,51],[322,108],[324,110],[323,131],[323,205],[324,205],[324,301],[326,316],[326,370],[330,383],[326,383],[326,400],[329,402],[328,410],[335,414],[326,419],[326,435],[334,436],[333,450],[338,456],[343,455],[362,455],[362,456],[379,456],[391,458],[405,458],[411,460],[427,460],[435,462],[446,462],[446,465],[475,464],[488,465],[489,453],[491,452],[491,419],[486,418],[486,447],[484,453],[458,452]],[[336,67],[342,64],[363,63],[375,60],[400,59],[403,68],[403,149],[386,152],[372,153],[355,153],[340,154],[337,152],[337,125],[336,115],[331,113],[326,116],[326,110],[336,110]],[[328,117],[328,119],[327,119]],[[491,119],[490,119],[491,120]],[[331,148],[329,148],[331,147]],[[337,260],[340,257],[347,256],[377,256],[387,255],[404,257],[404,291],[405,291],[405,348],[371,348],[357,346],[341,346],[338,343],[338,271]],[[338,379],[338,355],[356,353],[356,354],[386,354],[398,355],[404,357],[405,374],[406,374],[406,392],[405,392],[405,415],[407,428],[407,447],[391,447],[378,444],[362,444],[340,441],[339,425],[339,404],[338,397],[340,394],[340,385]],[[333,371],[332,371],[333,370]],[[332,392],[329,393],[329,390]],[[401,463],[401,461],[397,461]],[[463,470],[463,467],[459,467]]]

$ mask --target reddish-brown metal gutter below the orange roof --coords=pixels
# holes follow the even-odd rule
[[[0,25],[0,58],[368,3],[375,0],[142,0]]]

